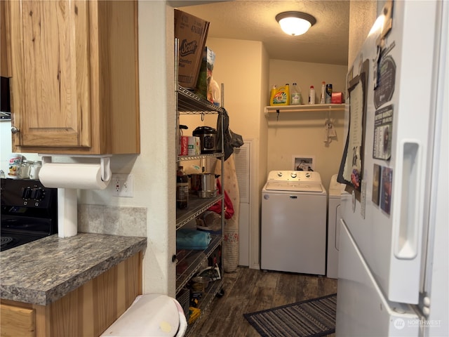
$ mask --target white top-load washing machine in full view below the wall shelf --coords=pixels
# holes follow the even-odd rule
[[[262,270],[326,273],[326,203],[318,172],[269,173],[262,189]]]

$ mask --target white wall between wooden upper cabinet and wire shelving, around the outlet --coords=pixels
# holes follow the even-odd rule
[[[175,85],[173,8],[139,1],[140,155],[112,158],[114,173],[132,173],[133,198],[82,191],[81,204],[147,208],[145,293],[175,294]],[[157,48],[155,48],[157,46]]]

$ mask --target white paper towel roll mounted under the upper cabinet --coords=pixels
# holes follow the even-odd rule
[[[103,181],[101,171],[101,164],[46,163],[39,180],[45,187],[103,190],[110,179]]]

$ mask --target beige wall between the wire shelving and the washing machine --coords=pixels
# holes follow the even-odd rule
[[[267,121],[261,88],[267,86],[268,55],[260,41],[208,39],[206,45],[215,54],[213,78],[225,84],[225,109],[229,127],[243,138],[253,140],[250,172],[250,267],[259,267],[260,190],[267,166]],[[207,119],[206,119],[207,122]],[[212,126],[213,124],[209,124]]]

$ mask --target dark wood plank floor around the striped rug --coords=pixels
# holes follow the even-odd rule
[[[244,313],[336,293],[337,280],[239,267],[225,273],[223,289],[225,295],[213,300],[189,336],[260,337]]]

